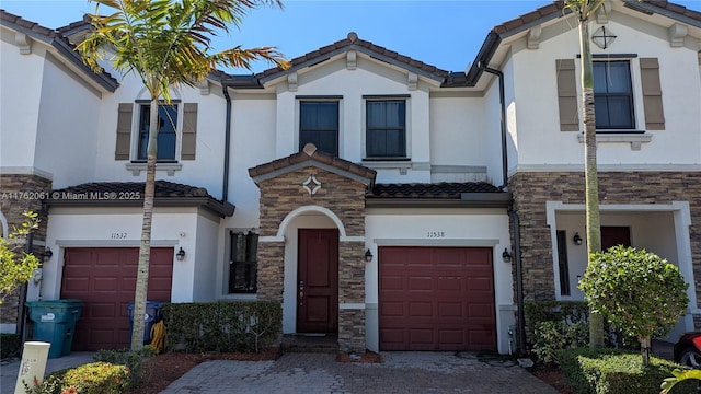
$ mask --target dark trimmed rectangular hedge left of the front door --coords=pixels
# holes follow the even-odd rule
[[[169,303],[161,308],[168,350],[257,352],[281,332],[279,302]]]

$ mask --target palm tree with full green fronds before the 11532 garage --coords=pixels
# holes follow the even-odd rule
[[[215,67],[251,69],[253,60],[265,59],[286,68],[287,61],[274,47],[214,51],[210,40],[218,32],[239,27],[246,11],[280,0],[89,0],[96,3],[89,18],[91,34],[78,45],[83,61],[101,70],[107,60],[122,74],[134,72],[150,94],[149,130],[158,130],[159,101],[170,104],[170,88],[195,86]],[[101,5],[111,13],[101,15]],[[137,269],[134,316],[146,313],[151,248],[151,220],[156,182],[157,132],[149,132],[143,220]],[[143,320],[134,318],[131,349],[143,347]]]

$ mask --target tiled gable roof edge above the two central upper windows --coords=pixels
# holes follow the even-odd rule
[[[409,56],[398,54],[397,51],[387,49],[371,42],[360,39],[358,38],[358,35],[356,33],[350,32],[348,33],[347,37],[344,39],[337,40],[331,45],[326,45],[317,50],[312,50],[302,56],[291,59],[290,68],[288,70],[283,70],[279,67],[274,67],[257,73],[255,77],[258,79],[274,78],[279,73],[288,72],[289,70],[295,70],[300,66],[321,62],[338,53],[353,50],[353,49],[377,57],[378,59],[383,61],[392,62],[398,66],[416,70],[423,74],[433,76],[435,79],[438,79],[438,80],[444,80],[450,74],[450,72],[446,70],[441,70],[435,66],[425,63],[416,59],[412,59]]]

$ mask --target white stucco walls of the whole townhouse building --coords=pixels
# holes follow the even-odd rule
[[[593,50],[598,56],[596,60],[610,57],[630,62],[634,130],[599,134],[599,171],[698,173],[701,171],[701,18],[683,19],[671,11],[647,15],[623,7],[621,1],[612,3],[606,18],[591,23],[590,31],[606,26],[616,35],[616,40],[607,49],[593,45]],[[675,24],[683,28],[675,28]],[[575,76],[579,74],[576,21],[560,13],[512,26],[516,27],[502,26],[505,31],[501,31],[498,40],[485,42],[494,45],[493,54],[480,58],[484,55],[481,53],[476,60],[485,61],[479,67],[491,69],[486,71],[478,70],[478,65],[464,73],[432,69],[391,51],[378,51],[371,43],[358,40],[350,34],[346,44],[336,43],[340,49],[307,54],[299,62],[292,62],[290,70],[251,76],[249,84],[240,82],[246,76],[234,78],[222,73],[212,74],[197,88],[174,86],[171,97],[179,108],[175,160],[159,163],[157,179],[202,188],[211,201],[226,199],[223,202],[235,206],[235,211],[221,218],[192,204],[157,206],[152,245],[173,247],[174,252],[182,247],[186,253],[182,262],[173,256],[172,302],[256,298],[256,294],[229,293],[229,232],[260,230],[261,192],[249,170],[267,163],[285,167],[284,160],[300,151],[300,102],[306,100],[338,103],[338,159],[344,164],[349,162],[376,171],[375,178],[368,182],[368,196],[378,184],[445,187],[445,183],[486,183],[494,188],[494,195],[506,195],[518,193],[508,189],[510,176],[581,172],[582,132],[560,130],[555,67],[559,59],[573,60]],[[51,37],[23,28],[3,20],[0,30],[2,175],[38,175],[51,181],[53,189],[87,183],[143,182],[145,164],[136,160],[137,129],[140,106],[149,96],[140,80],[133,74],[120,78],[107,67],[112,76],[119,77],[118,84],[101,83],[74,59],[68,59],[51,46]],[[329,37],[330,42],[335,38],[338,37]],[[472,55],[456,53],[464,57],[466,63]],[[662,130],[648,130],[645,126],[640,69],[641,59],[645,58],[659,62]],[[479,71],[478,77],[468,81],[473,71]],[[464,82],[451,82],[453,79]],[[577,83],[581,96],[579,90]],[[378,97],[405,103],[405,158],[368,159],[366,101]],[[185,104],[197,105],[194,160],[182,158]],[[133,109],[128,159],[115,159],[120,105],[130,105]],[[582,124],[582,108],[578,114]],[[227,123],[228,115],[230,123]],[[227,136],[230,137],[228,147]],[[280,159],[281,162],[276,162]],[[470,199],[473,194],[481,196],[458,193],[450,198],[424,198],[410,193],[392,196],[395,200],[384,196],[384,200],[379,198],[387,202],[384,206],[371,206],[368,201],[372,198],[366,198],[365,235],[358,240],[346,235],[340,216],[325,208],[310,205],[290,213],[279,233],[267,240],[285,243],[283,332],[296,332],[298,229],[336,228],[341,241],[363,241],[376,256],[365,266],[364,302],[342,305],[365,311],[368,349],[380,350],[378,247],[474,246],[493,251],[497,349],[503,354],[513,350],[508,333],[516,324],[515,312],[519,306],[515,301],[518,299],[512,266],[515,263],[504,263],[502,253],[505,250],[519,253],[514,251],[513,240],[517,234],[507,211],[512,209],[510,213],[515,215],[516,208],[513,200],[494,202],[495,199],[490,200],[493,196],[479,196],[493,202],[485,208],[480,198],[474,200],[481,202]],[[693,283],[693,256],[698,251],[691,240],[694,230],[690,228],[697,225],[696,208],[692,198],[683,200],[682,197],[670,204],[653,200],[607,206],[607,201],[602,201],[601,223],[629,227],[634,246],[644,246],[674,260],[687,281]],[[402,205],[406,200],[414,205]],[[377,199],[375,201],[377,204]],[[543,243],[552,245],[552,260],[545,263],[552,264],[553,277],[547,278],[554,283],[552,296],[558,300],[582,300],[576,287],[572,287],[570,294],[561,291],[556,236],[558,231],[565,231],[568,236],[574,232],[584,235],[584,207],[558,198],[544,205],[541,208],[547,212],[550,239]],[[7,207],[0,210],[3,235],[8,232],[5,218],[12,209]],[[45,245],[54,251],[54,256],[44,265],[43,280],[31,288],[30,297],[60,297],[66,248],[138,246],[141,213],[138,206],[50,206]],[[520,231],[528,231],[529,225],[536,224],[524,223]],[[427,236],[430,232],[444,236]],[[115,239],[114,234],[120,235]],[[258,247],[264,245],[265,242],[261,242]],[[571,283],[576,282],[586,268],[585,251],[584,245],[570,243],[567,247]],[[693,289],[691,286],[689,290],[692,300],[689,315],[678,331],[693,328],[691,314],[701,314]],[[5,328],[3,325],[2,329]]]

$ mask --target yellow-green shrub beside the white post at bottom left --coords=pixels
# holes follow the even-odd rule
[[[130,381],[126,366],[97,361],[56,371],[38,385],[25,382],[25,387],[27,394],[123,394]]]

